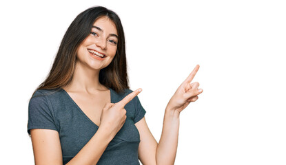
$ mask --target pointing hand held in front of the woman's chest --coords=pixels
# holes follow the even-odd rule
[[[101,113],[100,127],[111,131],[112,137],[121,129],[126,120],[125,105],[137,96],[142,89],[137,89],[125,96],[120,102],[105,104]]]

